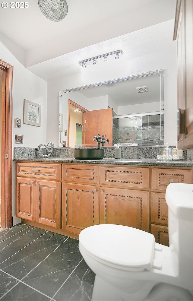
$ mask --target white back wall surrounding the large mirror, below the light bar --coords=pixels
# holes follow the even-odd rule
[[[53,120],[58,120],[58,92],[61,90],[164,69],[164,141],[168,142],[169,145],[175,145],[174,141],[177,140],[176,61],[176,41],[171,41],[168,43],[167,49],[128,60],[124,62],[124,64],[121,64],[120,62],[119,68],[114,68],[113,70],[108,70],[107,67],[104,67],[106,69],[103,70],[101,68],[101,73],[98,74],[95,72],[94,68],[90,68],[87,73],[85,71],[80,71],[80,73],[75,74],[74,76],[70,75],[68,77],[49,81],[47,96],[48,119],[52,116]],[[51,124],[47,124],[47,141],[54,140],[56,144],[57,141],[55,137],[57,136],[57,132],[54,131]]]

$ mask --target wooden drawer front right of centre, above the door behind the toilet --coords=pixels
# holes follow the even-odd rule
[[[149,168],[101,166],[100,184],[149,188]]]

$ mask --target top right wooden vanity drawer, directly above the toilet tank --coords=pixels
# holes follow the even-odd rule
[[[192,183],[192,170],[152,168],[151,189],[166,191],[169,183]]]

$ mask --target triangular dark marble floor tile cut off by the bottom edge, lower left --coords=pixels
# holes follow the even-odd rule
[[[47,301],[50,300],[49,296],[33,290],[26,284],[19,282],[12,290],[10,290],[1,300],[4,301]]]

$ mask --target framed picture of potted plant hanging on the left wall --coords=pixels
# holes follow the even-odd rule
[[[41,105],[24,99],[24,123],[30,125],[41,125]]]

